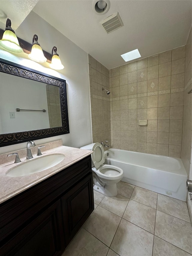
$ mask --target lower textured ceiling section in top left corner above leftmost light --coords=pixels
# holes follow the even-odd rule
[[[11,20],[12,29],[17,29],[39,0],[0,0],[0,22]]]

